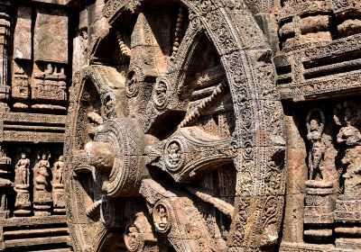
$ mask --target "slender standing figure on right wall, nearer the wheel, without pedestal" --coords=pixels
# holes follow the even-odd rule
[[[307,139],[310,142],[310,180],[325,179],[325,171],[323,166],[320,166],[326,150],[325,143],[322,141],[325,123],[325,114],[319,109],[313,109],[307,115]]]

